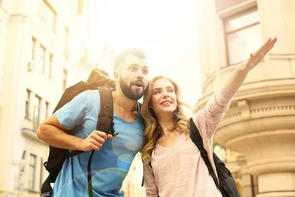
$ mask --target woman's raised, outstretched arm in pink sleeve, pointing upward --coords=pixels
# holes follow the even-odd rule
[[[248,72],[258,65],[266,53],[273,47],[276,38],[269,38],[265,44],[250,55],[244,63],[236,68],[232,76],[218,88],[206,106],[193,115],[194,123],[202,136],[213,137],[215,130],[229,109],[236,91],[244,82]]]

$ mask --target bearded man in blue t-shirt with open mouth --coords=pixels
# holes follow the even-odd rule
[[[137,102],[148,85],[148,62],[138,49],[123,51],[115,60],[114,129],[119,134],[95,131],[100,110],[98,90],[76,96],[46,119],[37,130],[47,144],[63,149],[88,151],[64,161],[52,197],[88,196],[87,164],[94,152],[93,197],[123,197],[122,181],[143,146],[144,121]],[[76,136],[65,130],[76,130]]]

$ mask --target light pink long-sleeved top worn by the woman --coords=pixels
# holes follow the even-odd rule
[[[216,177],[212,153],[213,134],[234,95],[223,84],[214,92],[207,105],[193,115]],[[148,164],[144,165],[147,197],[222,197],[200,151],[190,138],[185,138],[185,133],[179,133],[171,148],[156,144],[151,154],[152,169]]]

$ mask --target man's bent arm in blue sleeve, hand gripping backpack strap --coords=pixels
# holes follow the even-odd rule
[[[73,130],[83,123],[88,115],[89,94],[89,91],[80,93],[46,119],[37,130],[38,138],[57,148],[82,151],[99,150],[105,140],[112,138],[112,135],[107,136],[101,131],[89,131],[88,137],[83,139],[64,132]]]

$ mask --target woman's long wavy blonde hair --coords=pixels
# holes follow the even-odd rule
[[[150,107],[148,107],[152,97],[153,85],[155,81],[157,81],[158,79],[167,79],[168,81],[170,81],[174,86],[175,94],[177,98],[177,107],[173,115],[174,127],[171,128],[169,132],[171,131],[185,132],[187,138],[190,135],[190,121],[189,121],[189,118],[187,118],[184,115],[182,107],[185,106],[190,110],[191,108],[187,104],[181,101],[179,86],[174,80],[164,77],[162,75],[152,78],[148,82],[148,87],[145,92],[144,101],[141,107],[141,114],[143,118],[145,119],[145,128],[146,128],[145,134],[144,134],[145,145],[142,150],[142,159],[145,164],[148,164],[151,160],[151,151],[155,147],[156,142],[158,138],[160,137],[160,131],[161,131],[161,128],[155,113]]]

